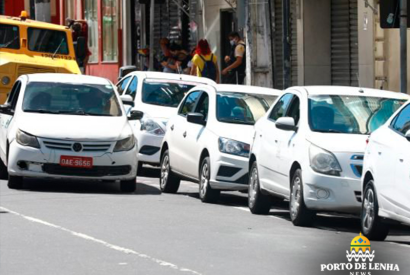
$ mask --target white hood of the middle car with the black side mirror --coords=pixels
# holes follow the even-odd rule
[[[251,144],[254,135],[253,125],[217,123],[213,129],[215,135],[219,137],[234,139],[240,142]]]

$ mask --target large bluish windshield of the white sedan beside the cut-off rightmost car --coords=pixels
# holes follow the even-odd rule
[[[383,97],[318,95],[309,97],[314,132],[370,134],[406,102]]]

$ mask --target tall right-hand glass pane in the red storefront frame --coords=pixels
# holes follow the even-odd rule
[[[118,61],[118,14],[116,0],[103,0],[103,61]]]

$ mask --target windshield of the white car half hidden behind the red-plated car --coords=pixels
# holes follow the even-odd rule
[[[185,94],[198,84],[146,79],[142,86],[142,102],[176,108]]]

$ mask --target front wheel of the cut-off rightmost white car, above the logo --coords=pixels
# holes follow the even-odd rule
[[[373,180],[368,182],[364,191],[360,225],[363,235],[370,240],[383,241],[389,234],[389,226],[379,217],[379,204]]]

